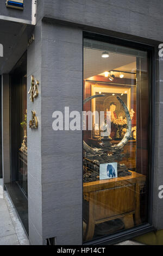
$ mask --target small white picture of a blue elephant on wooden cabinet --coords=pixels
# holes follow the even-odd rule
[[[117,178],[117,162],[99,164],[99,179]]]

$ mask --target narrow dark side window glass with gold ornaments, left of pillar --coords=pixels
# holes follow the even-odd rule
[[[27,56],[10,74],[11,182],[28,196],[27,186]]]

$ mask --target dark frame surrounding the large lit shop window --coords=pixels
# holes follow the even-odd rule
[[[84,70],[84,39],[92,39],[97,41],[108,42],[110,44],[116,44],[126,46],[129,48],[135,48],[137,50],[147,51],[148,58],[148,71],[149,71],[149,170],[148,170],[148,223],[141,224],[139,227],[134,227],[129,230],[119,231],[116,234],[104,236],[100,239],[83,242],[83,245],[112,245],[117,242],[131,239],[135,236],[139,236],[150,231],[156,230],[153,226],[153,187],[154,187],[154,134],[155,134],[155,45],[142,44],[138,41],[121,39],[119,37],[112,37],[108,35],[96,34],[92,32],[83,31],[83,70]],[[82,77],[83,78],[83,77]],[[83,83],[83,81],[82,81]],[[84,99],[84,89],[83,89]],[[82,154],[83,157],[83,154]],[[82,158],[83,164],[83,158]],[[82,188],[83,189],[83,188]],[[83,197],[83,191],[82,191]],[[82,207],[83,210],[83,207]],[[82,226],[83,226],[83,214],[82,214]],[[83,229],[82,229],[83,230]]]

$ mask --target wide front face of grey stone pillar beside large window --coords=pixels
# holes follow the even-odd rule
[[[82,243],[82,131],[52,129],[54,111],[82,112],[82,41],[80,29],[42,24],[42,225],[58,245]]]

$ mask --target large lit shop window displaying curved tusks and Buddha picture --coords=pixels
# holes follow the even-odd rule
[[[146,51],[84,39],[84,241],[148,221],[148,77]]]

